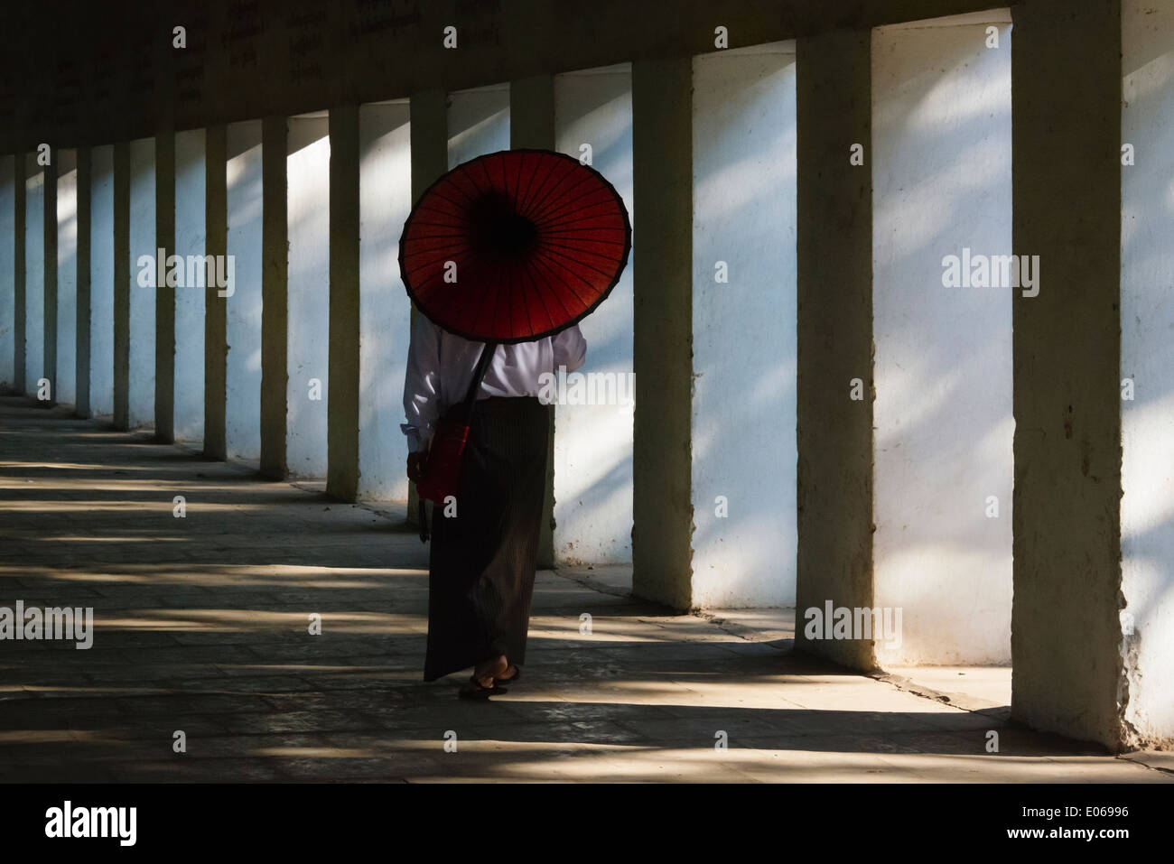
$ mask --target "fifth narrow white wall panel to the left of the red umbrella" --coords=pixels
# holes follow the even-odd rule
[[[130,428],[155,425],[155,139],[140,139],[130,142]]]

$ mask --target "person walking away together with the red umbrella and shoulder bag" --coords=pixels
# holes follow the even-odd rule
[[[399,271],[420,312],[404,382],[407,475],[437,502],[425,681],[473,667],[461,695],[485,698],[521,674],[553,411],[538,396],[544,376],[582,365],[578,323],[630,249],[615,188],[549,150],[457,166],[404,223]]]

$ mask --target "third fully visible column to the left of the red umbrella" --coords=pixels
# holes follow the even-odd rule
[[[204,139],[204,255],[228,255],[228,131],[223,123],[208,127]],[[204,455],[224,459],[228,306],[215,279],[204,288]]]

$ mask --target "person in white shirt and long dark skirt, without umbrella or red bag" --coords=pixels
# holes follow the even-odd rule
[[[437,420],[463,411],[483,347],[413,316],[402,426],[413,481]],[[484,698],[520,675],[551,446],[553,407],[538,399],[540,376],[574,371],[586,355],[582,333],[571,326],[497,345],[484,367],[456,500],[433,511],[425,681],[473,667],[460,695]]]

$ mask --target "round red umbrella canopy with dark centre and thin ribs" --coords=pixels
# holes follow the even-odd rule
[[[602,303],[630,249],[628,210],[603,175],[560,153],[502,150],[420,196],[399,270],[416,306],[448,332],[526,342]]]

